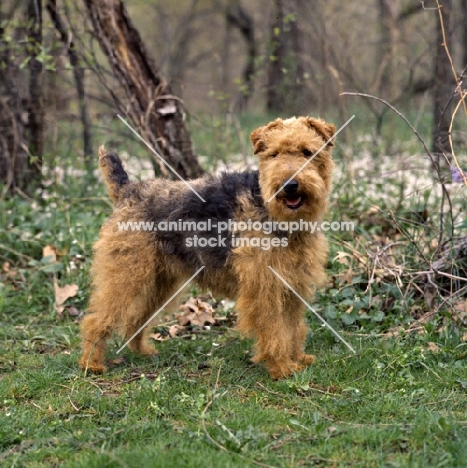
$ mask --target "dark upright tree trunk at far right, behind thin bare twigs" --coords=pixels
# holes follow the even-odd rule
[[[449,50],[451,54],[453,53],[452,7],[452,0],[443,0],[441,13],[443,16],[446,43],[443,39],[442,24],[439,15],[437,18],[432,147],[433,152],[437,155],[438,164],[440,163],[440,159],[444,159],[441,158],[443,153],[451,153],[449,145],[449,125],[451,123],[454,107],[453,97],[456,82],[446,49]]]

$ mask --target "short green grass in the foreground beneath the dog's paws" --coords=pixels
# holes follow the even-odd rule
[[[0,462],[464,466],[465,360],[411,339],[353,337],[351,355],[313,328],[318,363],[281,382],[223,332],[162,343],[154,359],[127,354],[103,377],[78,371],[74,339],[5,342]]]

